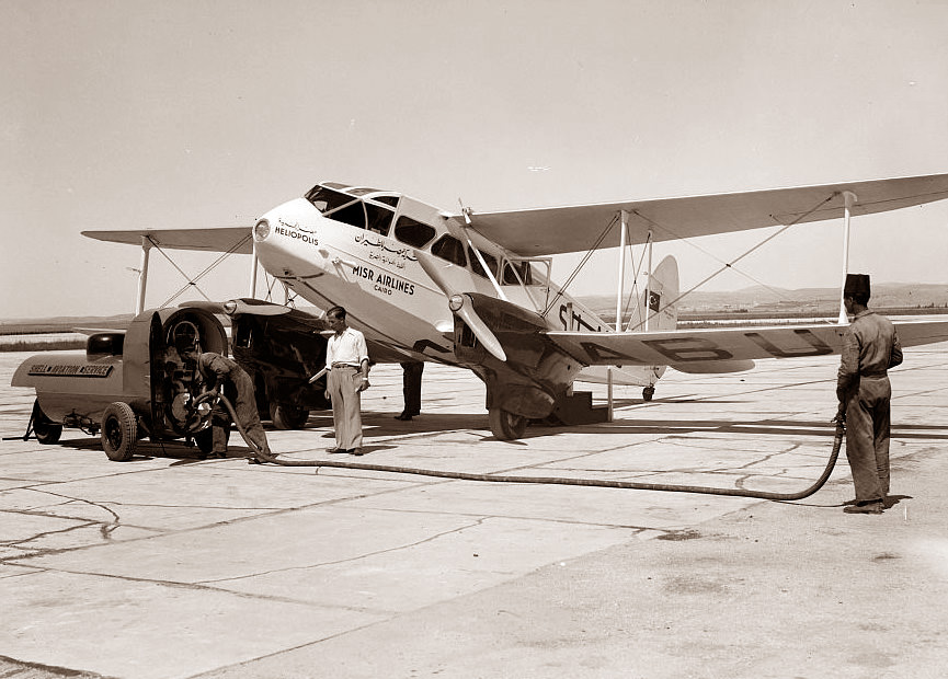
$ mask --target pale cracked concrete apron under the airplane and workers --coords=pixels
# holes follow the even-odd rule
[[[9,384],[28,355],[0,355],[4,437],[26,428],[33,394]],[[652,402],[617,389],[612,423],[515,442],[442,366],[423,414],[393,419],[401,370],[378,366],[357,461],[799,491],[830,453],[837,361],[669,371]],[[845,460],[774,503],[258,467],[237,436],[227,460],[142,442],[126,463],[78,430],[7,440],[0,676],[944,677],[948,345],[906,350],[892,382],[881,516],[843,514]],[[339,459],[324,414],[269,436]]]

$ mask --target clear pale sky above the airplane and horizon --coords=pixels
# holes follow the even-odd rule
[[[489,211],[948,172],[946,28],[944,0],[0,0],[0,319],[134,310],[139,250],[82,230],[250,227],[320,181]],[[769,233],[654,256],[689,288]],[[701,289],[836,286],[841,246],[801,225]],[[853,222],[873,281],[948,284],[946,254],[948,202]],[[183,284],[152,252],[147,306]]]

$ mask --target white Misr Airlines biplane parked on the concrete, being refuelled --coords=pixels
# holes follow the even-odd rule
[[[840,352],[844,310],[838,323],[677,330],[677,265],[665,257],[653,268],[654,243],[843,220],[842,280],[853,216],[946,197],[948,174],[936,174],[481,212],[444,211],[393,191],[327,182],[271,209],[252,227],[83,234],[141,246],[138,311],[150,249],[251,254],[251,298],[259,262],[287,296],[321,309],[345,307],[350,324],[365,333],[373,360],[469,368],[486,384],[491,431],[510,440],[523,436],[529,421],[563,411],[578,380],[638,384],[648,399],[667,367],[733,372],[761,358]],[[629,296],[635,308],[626,313],[623,253],[636,246],[648,253],[649,265],[643,284]],[[615,325],[551,279],[553,255],[605,248],[620,253]],[[240,308],[271,319],[290,312],[276,303]],[[300,313],[293,311],[297,319]],[[903,346],[948,340],[945,321],[896,325]],[[315,331],[300,326],[299,332]],[[287,403],[285,395],[270,398]],[[298,423],[305,408],[288,403],[287,408],[284,419]]]

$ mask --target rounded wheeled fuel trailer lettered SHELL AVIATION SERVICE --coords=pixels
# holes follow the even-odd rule
[[[224,325],[198,308],[145,311],[125,332],[100,332],[85,354],[46,353],[30,357],[11,384],[32,387],[32,428],[41,444],[56,444],[62,427],[101,435],[108,459],[132,459],[139,439],[184,439],[202,453],[212,448],[208,403],[193,404],[202,385],[193,366],[174,348],[189,337],[202,352],[227,355]]]

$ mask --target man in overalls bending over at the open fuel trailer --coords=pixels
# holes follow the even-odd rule
[[[203,378],[205,390],[214,394],[224,395],[233,406],[237,414],[237,423],[247,433],[247,438],[253,445],[263,450],[270,457],[276,457],[271,452],[266,442],[266,434],[260,424],[260,414],[256,412],[256,398],[253,393],[253,380],[237,361],[214,354],[213,352],[198,353],[192,343],[181,343],[175,346],[178,354],[186,361],[197,364],[197,370]],[[208,457],[226,458],[227,441],[230,438],[230,413],[227,407],[217,400],[210,414],[212,438],[214,449]],[[253,464],[260,464],[261,459],[256,450],[251,453],[250,460]]]

